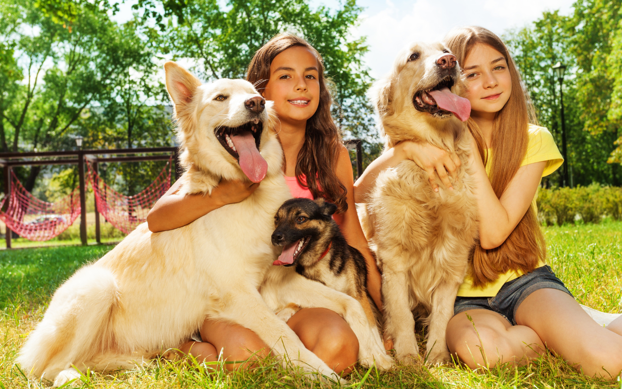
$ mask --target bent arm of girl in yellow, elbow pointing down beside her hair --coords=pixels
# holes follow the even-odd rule
[[[500,199],[494,194],[472,136],[468,163],[474,170],[475,197],[480,220],[480,245],[481,248],[490,250],[500,246],[509,237],[529,209],[547,162],[535,162],[519,167]]]

